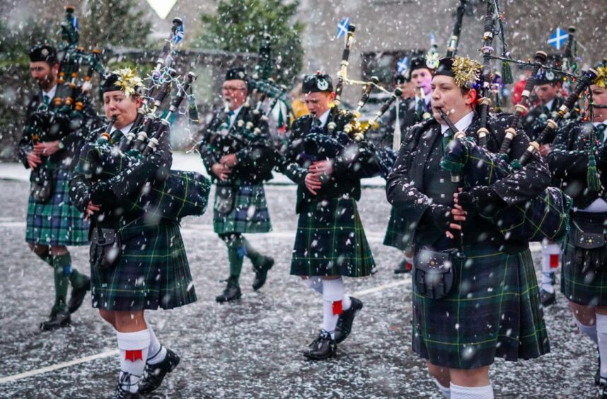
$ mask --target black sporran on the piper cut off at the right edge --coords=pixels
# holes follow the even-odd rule
[[[607,262],[607,248],[605,248],[605,233],[602,225],[593,226],[583,223],[584,230],[577,222],[574,225],[575,260],[577,265],[582,265],[584,270],[599,270]],[[590,233],[589,231],[599,231]]]

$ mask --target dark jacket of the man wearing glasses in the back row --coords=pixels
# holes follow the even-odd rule
[[[221,125],[226,121],[229,123],[229,120],[225,112],[216,112],[209,125],[202,131],[202,141],[199,145],[200,156],[213,183],[238,187],[238,185],[255,185],[272,179],[271,170],[275,163],[275,151],[270,129],[264,120],[258,122],[257,127],[260,129],[258,134],[246,129],[247,122],[253,121],[254,118],[250,108],[241,108],[227,132],[227,137],[223,141],[218,141]],[[239,123],[241,120],[242,122]],[[227,182],[222,182],[213,173],[212,166],[219,163],[221,156],[227,154],[236,154],[238,163],[232,169]]]

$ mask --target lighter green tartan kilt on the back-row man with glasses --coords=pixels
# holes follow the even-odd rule
[[[215,190],[215,204],[217,192]],[[220,214],[213,207],[213,230],[215,233],[267,233],[272,231],[270,212],[267,210],[263,184],[235,187],[234,206],[229,214]]]

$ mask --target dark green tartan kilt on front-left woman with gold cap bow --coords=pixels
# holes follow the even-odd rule
[[[179,225],[142,218],[120,229],[122,254],[108,270],[91,266],[93,308],[142,311],[177,308],[196,301]]]

